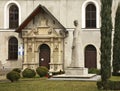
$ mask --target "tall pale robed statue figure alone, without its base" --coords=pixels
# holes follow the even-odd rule
[[[74,21],[75,30],[73,31],[73,43],[72,43],[72,60],[71,67],[80,67],[80,41],[79,41],[79,29],[78,21]]]

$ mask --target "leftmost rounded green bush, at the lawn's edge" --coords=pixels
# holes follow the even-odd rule
[[[20,74],[16,71],[11,71],[6,75],[7,79],[11,82],[18,81],[20,79]]]

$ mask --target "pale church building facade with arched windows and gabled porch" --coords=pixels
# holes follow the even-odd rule
[[[119,1],[113,0],[113,25]],[[100,0],[0,0],[0,68],[69,67],[77,20],[79,64],[100,69],[100,5]]]

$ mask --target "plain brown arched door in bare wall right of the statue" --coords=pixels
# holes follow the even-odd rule
[[[96,68],[96,48],[92,45],[88,45],[85,48],[85,67]]]

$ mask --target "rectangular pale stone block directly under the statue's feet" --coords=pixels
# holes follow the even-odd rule
[[[68,67],[65,70],[66,75],[87,75],[88,69],[84,67]]]

